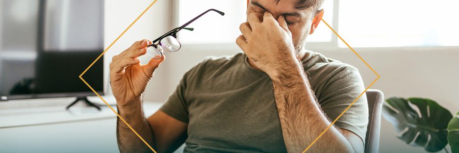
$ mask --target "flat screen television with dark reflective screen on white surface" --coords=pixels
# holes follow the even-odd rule
[[[79,75],[103,52],[103,0],[0,1],[1,100],[95,95]],[[104,58],[83,75],[104,91]]]

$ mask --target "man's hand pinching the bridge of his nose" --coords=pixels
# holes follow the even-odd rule
[[[240,25],[242,35],[236,43],[255,66],[271,78],[286,67],[294,66],[297,58],[284,16],[276,21],[269,12],[250,13],[247,21]]]

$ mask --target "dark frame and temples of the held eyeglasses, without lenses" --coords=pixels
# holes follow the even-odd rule
[[[177,39],[177,32],[181,31],[182,29],[189,30],[189,31],[193,31],[194,28],[186,28],[186,26],[189,25],[189,24],[191,24],[193,21],[195,21],[196,19],[198,19],[199,17],[201,17],[202,15],[204,15],[204,14],[206,14],[207,12],[210,12],[210,11],[215,11],[215,12],[217,12],[218,14],[220,14],[220,15],[222,15],[222,16],[225,15],[225,13],[223,13],[223,12],[221,12],[221,11],[218,11],[218,10],[216,10],[216,9],[209,9],[209,10],[207,10],[207,11],[205,11],[205,12],[199,14],[199,15],[196,16],[195,18],[191,19],[191,20],[188,21],[187,23],[183,24],[182,26],[177,27],[177,28],[174,28],[174,29],[172,29],[171,31],[167,32],[166,34],[162,35],[161,37],[155,39],[154,41],[152,41],[152,42],[153,42],[152,44],[148,45],[148,47],[149,47],[149,46],[152,46],[152,47],[155,47],[156,49],[158,49],[158,45],[162,46],[161,40],[164,39],[164,38],[167,37],[167,36],[172,36],[172,37],[174,37],[175,39]],[[158,43],[156,43],[156,42],[158,42]],[[179,41],[179,45],[180,45],[180,47],[179,47],[179,49],[180,49],[180,48],[182,47],[182,44],[180,44],[180,41]],[[166,49],[167,49],[167,47],[166,47]],[[174,51],[173,51],[173,50],[169,50],[169,49],[168,49],[168,50],[171,51],[171,52],[176,52],[176,51],[178,51],[179,49],[174,50]],[[163,56],[163,53],[162,53],[162,52],[160,52],[160,53],[161,53],[161,57],[162,57],[162,56]]]

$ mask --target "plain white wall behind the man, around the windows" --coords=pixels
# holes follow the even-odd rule
[[[152,1],[106,1],[106,40],[108,46]],[[122,6],[122,7],[120,7]],[[139,21],[106,53],[108,63],[134,41],[154,39],[172,28],[171,1],[158,1]],[[343,36],[345,38],[345,36]],[[207,56],[233,55],[239,51],[235,44],[202,48],[184,45],[176,53],[166,52],[166,60],[156,71],[149,84],[145,99],[165,101],[175,89],[182,75]],[[359,68],[364,82],[369,85],[376,76],[347,49],[324,51],[327,57],[349,63]],[[459,49],[456,48],[356,48],[362,57],[381,75],[372,89],[379,89],[386,97],[427,97],[451,113],[459,111]],[[145,60],[144,60],[145,61]],[[107,71],[108,72],[108,71]],[[425,152],[411,147],[396,138],[393,127],[382,120],[380,152]]]

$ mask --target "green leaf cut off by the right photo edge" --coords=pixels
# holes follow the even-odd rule
[[[449,121],[448,142],[453,153],[459,152],[459,112]]]

